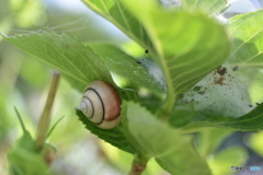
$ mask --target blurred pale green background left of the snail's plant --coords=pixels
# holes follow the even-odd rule
[[[67,33],[81,42],[127,44],[130,40],[81,1],[1,0],[0,31],[7,35],[34,32]],[[0,174],[7,175],[8,150],[22,136],[14,106],[35,137],[47,96],[52,70],[0,37]],[[133,156],[99,140],[75,115],[81,94],[61,79],[53,110],[53,124],[64,119],[48,142],[57,148],[54,175],[127,174]],[[151,161],[146,174],[165,174]]]

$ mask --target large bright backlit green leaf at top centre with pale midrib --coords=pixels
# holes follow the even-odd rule
[[[186,92],[228,57],[230,44],[224,27],[204,14],[165,10],[151,0],[83,2],[149,50],[167,80],[168,113],[178,94]]]

